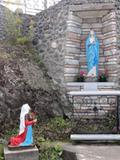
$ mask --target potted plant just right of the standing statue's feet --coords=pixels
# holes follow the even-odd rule
[[[98,75],[98,82],[107,82],[108,81],[108,70],[106,69],[104,72],[100,72]]]

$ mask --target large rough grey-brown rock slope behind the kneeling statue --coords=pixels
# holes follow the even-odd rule
[[[6,48],[0,45],[0,48],[3,48],[3,54],[16,53],[16,58],[0,60],[1,133],[6,128],[18,125],[24,103],[28,103],[42,121],[70,112],[66,91],[54,83],[43,64],[39,66],[28,59],[24,53],[26,49],[20,46]]]

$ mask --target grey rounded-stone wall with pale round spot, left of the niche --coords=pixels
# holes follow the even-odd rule
[[[37,15],[38,50],[49,75],[64,82],[64,54],[68,17],[67,3],[59,3]]]

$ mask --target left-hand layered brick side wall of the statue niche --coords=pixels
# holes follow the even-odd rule
[[[79,74],[80,66],[80,39],[82,19],[72,12],[69,13],[66,32],[66,50],[64,65],[64,80],[75,81]]]

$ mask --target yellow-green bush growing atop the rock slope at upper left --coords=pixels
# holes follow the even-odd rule
[[[26,45],[32,41],[34,36],[34,21],[31,19],[29,23],[28,34],[23,34],[23,19],[19,14],[13,14],[6,10],[6,31],[12,44]]]

